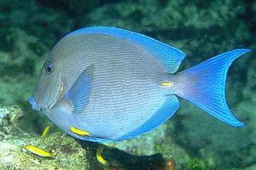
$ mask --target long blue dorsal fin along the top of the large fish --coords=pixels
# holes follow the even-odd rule
[[[121,28],[114,28],[108,26],[95,26],[83,28],[81,30],[73,31],[67,37],[73,35],[107,35],[111,37],[128,40],[131,43],[145,48],[150,54],[153,54],[162,64],[166,65],[169,73],[174,73],[180,67],[181,61],[185,58],[185,54],[177,48],[171,47],[166,43],[159,42],[153,38],[145,35],[135,33],[132,31],[123,30]]]

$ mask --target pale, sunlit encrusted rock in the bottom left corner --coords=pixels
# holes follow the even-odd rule
[[[50,133],[40,141],[39,136],[31,135],[16,123],[23,116],[17,106],[1,108],[0,169],[89,169],[92,166],[92,153],[83,149],[72,137],[62,132]],[[23,149],[25,145],[52,152],[54,157],[36,156]],[[90,160],[90,165],[89,165]]]

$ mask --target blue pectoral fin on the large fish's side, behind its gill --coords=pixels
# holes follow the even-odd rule
[[[92,65],[87,67],[80,76],[76,79],[73,86],[71,86],[68,93],[66,93],[66,99],[71,101],[71,105],[73,106],[73,113],[81,113],[85,105],[88,102],[88,93],[90,91],[91,84],[91,69]]]

